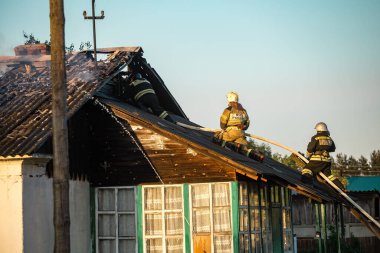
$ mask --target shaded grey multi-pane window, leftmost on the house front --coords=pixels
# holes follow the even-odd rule
[[[136,252],[135,188],[97,188],[95,194],[97,252]]]

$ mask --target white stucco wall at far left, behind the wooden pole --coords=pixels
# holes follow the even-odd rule
[[[0,252],[54,251],[53,180],[46,159],[0,160]],[[70,181],[71,252],[91,252],[90,193]]]

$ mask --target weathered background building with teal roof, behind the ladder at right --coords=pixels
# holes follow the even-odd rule
[[[379,176],[351,176],[347,177],[347,191],[349,196],[360,205],[368,214],[379,220]],[[298,237],[299,250],[316,249],[315,235],[319,230],[316,214],[320,212],[318,207],[301,194],[293,195],[293,231]],[[326,203],[324,206],[327,224],[336,222],[336,203]],[[360,243],[362,252],[377,252],[380,240],[371,230],[353,216],[346,208],[342,209],[341,231],[346,240],[355,238]],[[327,231],[331,235],[331,231]]]

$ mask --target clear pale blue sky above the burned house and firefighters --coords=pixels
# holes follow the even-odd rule
[[[91,1],[66,0],[66,43],[92,42]],[[336,153],[380,149],[380,1],[97,0],[97,47],[141,46],[191,121],[218,128],[235,91],[247,132],[305,152],[317,122]],[[49,1],[0,1],[0,55],[49,40]],[[287,154],[272,146],[273,152]]]

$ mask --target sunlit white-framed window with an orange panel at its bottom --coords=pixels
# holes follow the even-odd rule
[[[232,252],[230,184],[193,184],[190,187],[193,252]]]

